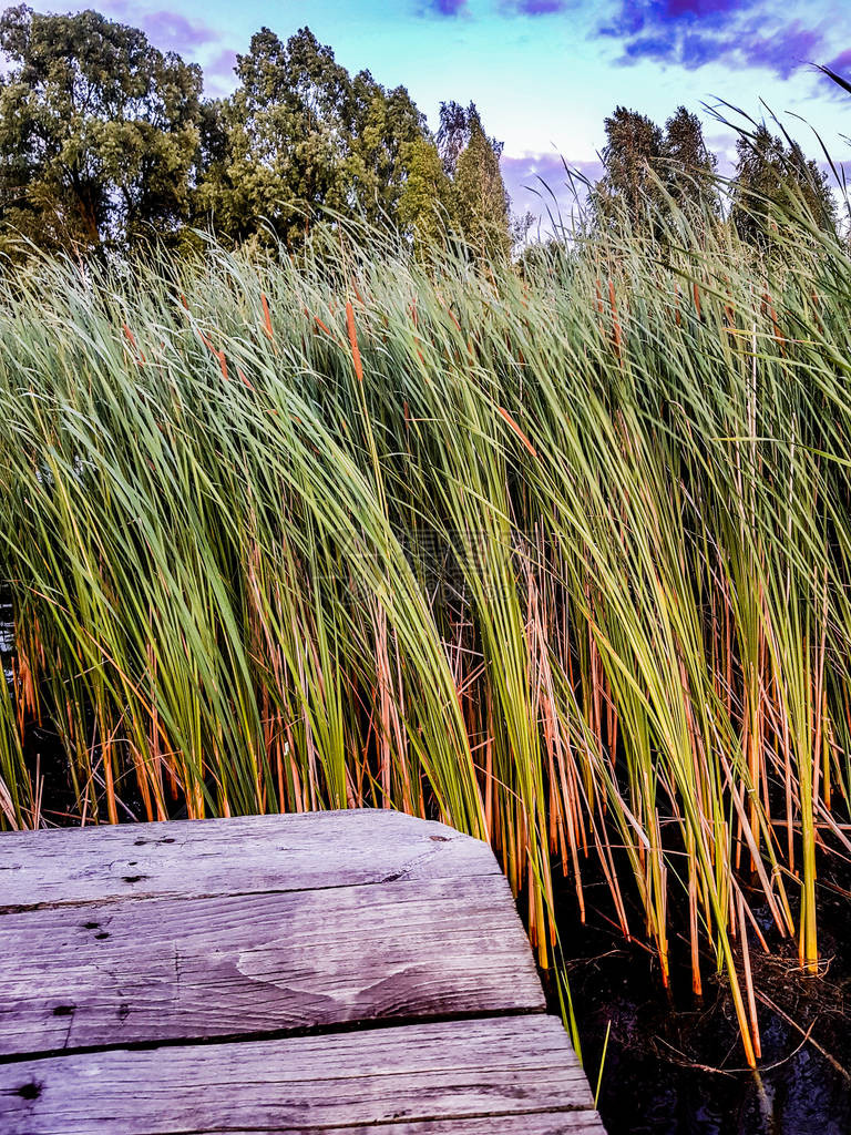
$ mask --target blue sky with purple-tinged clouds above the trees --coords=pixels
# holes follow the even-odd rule
[[[202,65],[207,91],[234,86],[235,53],[268,26],[309,26],[349,70],[405,85],[432,127],[441,100],[474,101],[504,141],[515,211],[568,209],[564,163],[599,174],[604,120],[618,104],[660,125],[680,104],[703,119],[722,170],[734,134],[714,117],[773,114],[804,150],[851,158],[851,95],[811,66],[851,77],[851,0],[90,0],[152,43]],[[801,120],[803,119],[803,120]],[[544,183],[548,188],[544,187]],[[546,203],[546,204],[545,204]]]

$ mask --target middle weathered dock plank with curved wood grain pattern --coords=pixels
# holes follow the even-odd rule
[[[0,1053],[542,1010],[502,875],[0,917]]]

